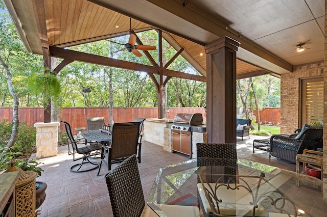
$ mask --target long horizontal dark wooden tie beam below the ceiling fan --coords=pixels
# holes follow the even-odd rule
[[[50,56],[69,59],[84,63],[97,64],[103,66],[110,66],[115,68],[129,69],[133,71],[143,71],[152,74],[158,74],[158,70],[154,66],[147,66],[139,63],[132,63],[123,60],[116,60],[108,57],[102,57],[98,55],[92,55],[90,53],[79,52],[75,50],[63,49],[59,47],[50,46]],[[162,74],[165,76],[178,77],[189,80],[198,80],[199,82],[205,82],[206,77],[188,74],[184,72],[178,72],[173,70],[163,70]]]

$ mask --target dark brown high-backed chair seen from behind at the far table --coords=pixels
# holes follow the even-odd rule
[[[115,123],[111,130],[111,144],[102,146],[101,161],[97,176],[99,176],[102,163],[108,170],[111,164],[122,162],[133,154],[137,154],[139,122]],[[141,158],[141,149],[138,150]]]

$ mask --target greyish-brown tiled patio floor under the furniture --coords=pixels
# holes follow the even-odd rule
[[[253,140],[263,138],[253,135],[244,141],[238,138],[238,158],[295,171],[295,165],[279,161],[275,157],[269,158],[269,153],[266,151],[255,149],[255,153],[252,153]],[[141,156],[142,162],[138,164],[138,169],[145,200],[148,198],[159,168],[188,159],[185,155],[164,151],[161,146],[149,142],[142,143]],[[76,162],[73,162],[72,155],[68,155],[67,146],[58,147],[57,156],[42,158],[40,161],[44,163],[41,166],[44,172],[36,180],[45,181],[48,188],[46,199],[38,208],[41,210],[39,217],[112,216],[109,194],[104,180],[104,175],[108,172],[105,166],[101,168],[100,176],[96,176],[98,170],[83,173],[70,172],[69,168]],[[116,166],[118,164],[112,165],[112,169]]]

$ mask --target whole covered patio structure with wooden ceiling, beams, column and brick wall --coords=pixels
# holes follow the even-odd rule
[[[163,112],[162,87],[170,77],[206,82],[208,142],[236,142],[236,79],[263,74],[281,78],[282,133],[302,124],[302,80],[309,77],[327,80],[327,64],[324,63],[327,16],[323,0],[4,2],[29,51],[43,55],[48,66],[51,66],[51,57],[63,59],[54,68],[56,72],[73,61],[147,72],[158,91],[159,118]],[[164,38],[177,50],[176,56],[163,65],[160,40],[158,61],[151,59],[145,51],[152,66],[64,49],[129,34],[130,17],[133,32],[156,30],[159,39]],[[137,39],[137,44],[142,45],[142,41]],[[302,48],[304,50],[298,52]],[[177,55],[188,60],[202,76],[167,69]],[[325,108],[327,88],[326,82],[323,84]],[[326,111],[324,109],[324,123],[327,122]],[[45,119],[49,120],[49,117]],[[325,131],[323,139],[327,146]],[[326,166],[327,154],[324,154],[324,168]],[[327,177],[327,171],[324,171],[324,177]]]

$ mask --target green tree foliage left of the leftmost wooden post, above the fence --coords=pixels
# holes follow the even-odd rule
[[[42,66],[42,56],[28,52],[22,44],[3,1],[0,4],[0,56],[12,75],[13,89],[22,106],[40,106],[38,95],[30,94],[25,77],[29,77],[35,66]],[[0,64],[0,104],[12,106],[13,97],[7,85],[7,74]]]

